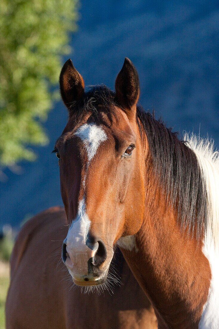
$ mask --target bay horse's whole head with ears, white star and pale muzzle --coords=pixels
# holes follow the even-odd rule
[[[143,219],[145,151],[136,121],[138,75],[125,59],[115,93],[104,86],[85,93],[81,75],[68,60],[60,88],[69,110],[55,145],[69,222],[62,260],[74,283],[98,285],[107,278],[116,241],[134,235]]]

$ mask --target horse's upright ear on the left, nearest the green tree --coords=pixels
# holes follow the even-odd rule
[[[84,80],[74,68],[70,58],[61,69],[59,83],[62,100],[69,109],[72,102],[79,100],[85,93]]]

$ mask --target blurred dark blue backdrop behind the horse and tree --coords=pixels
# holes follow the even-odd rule
[[[145,110],[155,110],[174,131],[212,137],[219,146],[219,4],[217,1],[88,1],[80,5],[71,59],[85,85],[114,88],[124,58],[136,66]],[[63,63],[67,58],[63,58]],[[0,182],[0,227],[19,227],[31,215],[62,205],[59,167],[51,154],[67,121],[54,104],[45,129],[50,143],[34,148],[37,161],[22,162]]]

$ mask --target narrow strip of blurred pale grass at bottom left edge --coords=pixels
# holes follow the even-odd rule
[[[0,260],[0,329],[5,329],[5,301],[9,281],[9,263]]]

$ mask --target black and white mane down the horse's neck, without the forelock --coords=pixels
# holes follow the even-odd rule
[[[181,228],[192,235],[195,231],[197,239],[204,229],[208,242],[213,238],[218,243],[219,152],[214,151],[213,140],[187,133],[179,139],[178,133],[141,107],[136,116],[147,136],[155,174]]]

